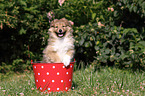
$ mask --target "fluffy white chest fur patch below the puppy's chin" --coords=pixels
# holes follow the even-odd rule
[[[61,38],[61,39],[57,39],[54,42],[53,48],[54,51],[56,51],[58,56],[60,57],[60,60],[63,61],[67,51],[71,49],[72,46],[73,44],[71,44],[69,38]]]

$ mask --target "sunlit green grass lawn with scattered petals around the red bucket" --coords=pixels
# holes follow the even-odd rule
[[[72,90],[43,93],[36,90],[33,72],[0,76],[0,96],[144,96],[145,72],[112,67],[74,69]]]

